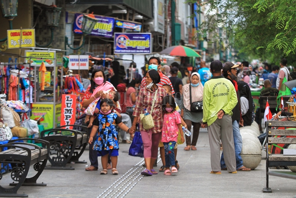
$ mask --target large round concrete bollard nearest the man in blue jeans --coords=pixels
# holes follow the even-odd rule
[[[245,167],[254,170],[261,162],[261,143],[257,137],[242,136],[242,161]]]

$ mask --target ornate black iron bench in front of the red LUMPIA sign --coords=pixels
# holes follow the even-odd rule
[[[49,141],[50,144],[48,160],[52,166],[46,169],[75,170],[73,167],[66,167],[66,164],[71,159],[78,161],[88,142],[86,132],[71,129],[44,130],[40,133],[40,138]],[[76,155],[75,148],[81,145],[83,150]]]

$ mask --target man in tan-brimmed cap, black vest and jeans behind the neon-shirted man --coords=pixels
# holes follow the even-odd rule
[[[237,70],[236,68],[239,65],[234,65],[231,62],[226,62],[223,65],[223,76],[230,80],[231,83],[234,85],[235,91],[237,92],[237,105],[232,110],[232,129],[233,129],[233,140],[234,140],[234,150],[235,150],[235,159],[237,162],[237,170],[240,171],[250,171],[251,169],[244,167],[242,164],[242,157],[241,157],[241,151],[242,151],[242,136],[239,131],[239,125],[243,126],[243,119],[241,115],[241,108],[240,108],[240,94],[238,91],[238,85],[237,85]],[[222,152],[221,160],[220,160],[221,170],[227,170],[226,164],[224,161],[224,155]]]

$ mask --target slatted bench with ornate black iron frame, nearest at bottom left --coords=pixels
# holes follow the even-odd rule
[[[19,140],[41,142],[46,145],[46,148],[25,142],[15,142]],[[7,147],[7,150],[0,152],[0,180],[4,178],[6,173],[10,173],[14,182],[9,185],[14,187],[6,188],[6,186],[0,185],[0,197],[28,197],[27,194],[17,194],[21,186],[46,186],[45,183],[36,183],[36,181],[46,166],[49,142],[34,138],[19,138],[0,145],[0,148],[4,147]],[[31,178],[26,178],[31,165],[37,173]]]

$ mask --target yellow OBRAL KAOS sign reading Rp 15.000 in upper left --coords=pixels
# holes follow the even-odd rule
[[[35,29],[7,30],[8,49],[35,47]]]

